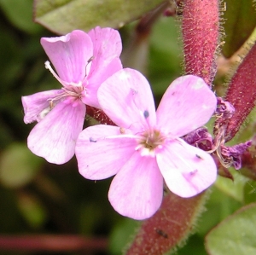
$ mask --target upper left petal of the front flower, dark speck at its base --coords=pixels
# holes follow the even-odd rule
[[[155,124],[150,86],[136,70],[115,72],[99,88],[98,99],[102,110],[120,127],[140,131]]]

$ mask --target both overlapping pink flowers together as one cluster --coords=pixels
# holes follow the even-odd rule
[[[147,79],[122,69],[117,31],[96,27],[41,43],[58,74],[49,62],[46,67],[63,87],[22,97],[24,121],[38,121],[28,136],[34,154],[63,164],[75,152],[83,177],[115,176],[108,199],[117,212],[134,219],[158,210],[164,183],[188,198],[215,181],[211,155],[181,138],[205,125],[216,109],[216,96],[201,78],[177,78],[155,111]],[[117,126],[82,130],[85,105],[101,108]]]

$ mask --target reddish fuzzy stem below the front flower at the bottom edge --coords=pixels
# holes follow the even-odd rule
[[[205,202],[203,193],[184,199],[169,193],[160,210],[145,220],[126,255],[162,255],[188,238]],[[169,253],[168,253],[169,254]]]

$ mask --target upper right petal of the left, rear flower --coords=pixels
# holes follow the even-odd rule
[[[113,59],[119,58],[122,51],[122,41],[119,32],[110,27],[101,28],[96,26],[88,32],[88,35],[93,43],[93,60],[88,79],[92,83],[102,84],[107,76],[113,74],[109,70],[106,73],[106,68]],[[119,69],[121,68],[122,65],[119,62]]]

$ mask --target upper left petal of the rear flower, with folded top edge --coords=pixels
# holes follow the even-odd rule
[[[86,65],[93,55],[93,46],[85,32],[74,30],[58,38],[41,38],[41,44],[62,80],[79,83],[89,72]]]

